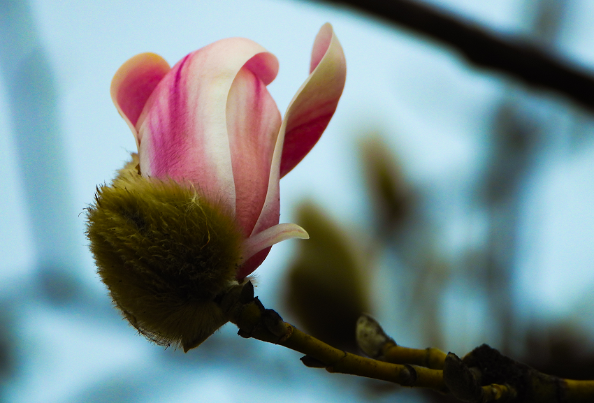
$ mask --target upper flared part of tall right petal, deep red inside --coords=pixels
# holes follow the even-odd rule
[[[286,126],[280,177],[287,175],[310,152],[328,122],[345,87],[347,64],[331,24],[319,30],[312,50],[311,74],[284,115]]]

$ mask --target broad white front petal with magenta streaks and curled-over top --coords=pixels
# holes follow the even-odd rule
[[[188,54],[161,80],[138,119],[143,175],[192,182],[205,196],[236,208],[226,104],[238,72],[266,50],[245,38],[217,41]],[[262,59],[270,59],[262,57]],[[254,71],[263,70],[254,62]],[[274,66],[263,75],[275,75]]]

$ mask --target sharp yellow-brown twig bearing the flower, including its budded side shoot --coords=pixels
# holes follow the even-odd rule
[[[586,403],[594,399],[594,381],[542,374],[486,344],[463,359],[437,349],[396,348],[382,326],[366,315],[357,322],[356,338],[371,358],[347,353],[301,332],[273,309],[266,309],[254,296],[249,281],[234,286],[217,301],[239,328],[238,335],[305,354],[301,361],[307,367],[429,388],[471,403]],[[439,367],[442,369],[436,369]]]

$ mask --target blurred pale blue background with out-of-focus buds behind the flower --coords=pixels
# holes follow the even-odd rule
[[[594,3],[431,0],[594,75]],[[85,207],[136,150],[110,80],[140,52],[175,64],[229,36],[273,52],[281,111],[319,27],[347,57],[338,110],[281,183],[264,305],[353,344],[361,312],[398,344],[482,343],[551,374],[594,377],[594,119],[561,94],[470,66],[370,15],[296,0],[0,1],[2,402],[441,402],[306,368],[226,325],[198,349],[154,346],[111,307]]]

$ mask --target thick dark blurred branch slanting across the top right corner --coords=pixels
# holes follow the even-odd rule
[[[384,20],[447,43],[473,64],[553,89],[594,110],[594,77],[567,61],[519,39],[504,40],[476,25],[456,20],[410,0],[327,0],[358,8]]]

